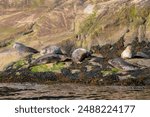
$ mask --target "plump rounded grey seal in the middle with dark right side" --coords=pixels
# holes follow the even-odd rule
[[[91,53],[89,51],[87,51],[84,48],[78,48],[73,51],[72,60],[77,63],[83,61],[85,58],[89,56],[91,56]]]

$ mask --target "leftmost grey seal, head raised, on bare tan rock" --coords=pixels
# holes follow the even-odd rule
[[[16,49],[20,54],[23,53],[31,53],[31,54],[36,54],[39,53],[38,50],[28,47],[22,43],[19,42],[15,42],[15,44],[13,45],[13,48]]]

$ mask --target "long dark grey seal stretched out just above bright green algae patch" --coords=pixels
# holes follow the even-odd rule
[[[36,60],[33,60],[33,62],[31,62],[31,64],[39,65],[39,64],[46,64],[46,63],[66,61],[66,60],[70,60],[70,58],[65,55],[46,54],[44,56],[37,58]]]

